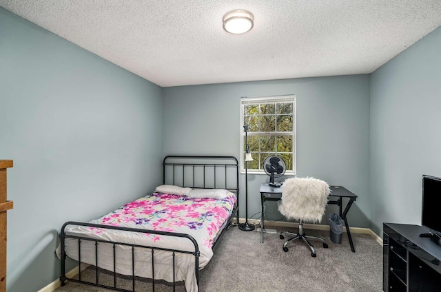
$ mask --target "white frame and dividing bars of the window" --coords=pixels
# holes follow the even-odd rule
[[[293,125],[292,125],[292,157],[293,157],[293,165],[292,170],[285,171],[285,174],[288,175],[296,175],[296,164],[297,164],[297,157],[296,157],[296,96],[294,94],[291,95],[283,95],[283,96],[262,96],[262,97],[242,97],[240,98],[240,173],[245,174],[245,149],[243,145],[245,144],[245,131],[243,129],[245,115],[244,115],[244,107],[246,104],[256,104],[256,103],[287,103],[292,102],[292,114],[293,114]],[[277,115],[277,113],[275,113]],[[287,132],[250,132],[248,131],[248,138],[251,135],[258,135],[261,134],[283,134],[286,135]],[[277,153],[277,152],[276,152]],[[253,155],[254,154],[254,155]],[[260,152],[258,152],[260,154]],[[257,158],[256,152],[252,152],[252,156],[254,159]],[[260,156],[260,155],[259,155]],[[287,166],[287,168],[289,168]],[[248,169],[248,174],[265,174],[265,170],[263,169]]]

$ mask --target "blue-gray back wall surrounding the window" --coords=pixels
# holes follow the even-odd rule
[[[369,76],[167,87],[163,89],[163,154],[240,157],[240,96],[296,94],[297,172],[358,195],[349,213],[354,227],[369,227]],[[248,215],[260,210],[260,183],[248,176]],[[240,176],[245,218],[245,176]],[[268,202],[269,218],[280,218]],[[338,211],[329,206],[329,211]],[[255,216],[254,218],[258,218]],[[324,220],[327,224],[327,220]]]

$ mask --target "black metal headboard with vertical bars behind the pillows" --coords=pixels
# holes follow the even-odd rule
[[[239,194],[239,163],[234,156],[165,156],[163,184],[227,189]]]

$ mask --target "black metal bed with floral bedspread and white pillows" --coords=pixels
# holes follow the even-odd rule
[[[163,185],[147,196],[90,222],[65,222],[60,231],[61,284],[66,280],[135,291],[135,279],[185,282],[199,291],[199,271],[212,258],[220,236],[238,222],[238,160],[232,156],[167,156]],[[95,269],[93,281],[68,278],[66,257]],[[99,270],[111,271],[113,283],[100,283]],[[131,279],[130,289],[116,275]]]

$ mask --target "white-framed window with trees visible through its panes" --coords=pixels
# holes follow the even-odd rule
[[[296,174],[296,98],[269,96],[240,99],[241,157],[240,170],[245,171],[245,131],[249,125],[247,142],[253,160],[248,161],[248,171],[265,174],[263,162],[270,155],[285,160],[286,174]]]

